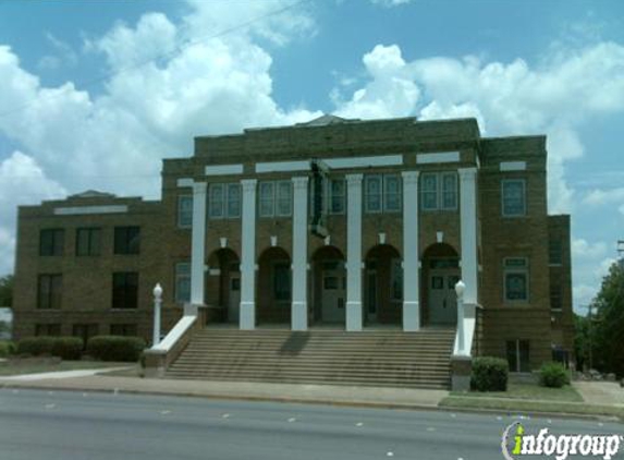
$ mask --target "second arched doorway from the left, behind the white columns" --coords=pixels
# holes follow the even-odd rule
[[[258,259],[258,324],[290,324],[291,299],[291,258],[283,249],[269,247]]]

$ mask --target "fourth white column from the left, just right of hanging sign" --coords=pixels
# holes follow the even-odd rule
[[[362,330],[362,174],[347,174],[346,330]]]

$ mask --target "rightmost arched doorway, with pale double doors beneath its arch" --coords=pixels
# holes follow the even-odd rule
[[[425,323],[431,326],[457,324],[455,285],[461,278],[460,257],[450,244],[430,245],[423,255]]]

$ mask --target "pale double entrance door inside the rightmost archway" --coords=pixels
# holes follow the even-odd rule
[[[454,325],[457,323],[455,285],[460,276],[452,269],[432,268],[429,273],[429,322]]]

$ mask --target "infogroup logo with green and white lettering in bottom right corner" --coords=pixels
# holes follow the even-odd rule
[[[521,422],[514,422],[503,432],[501,449],[506,460],[526,456],[554,457],[565,460],[571,456],[612,459],[624,444],[624,436],[610,435],[554,435],[541,428],[537,435],[529,435]]]

